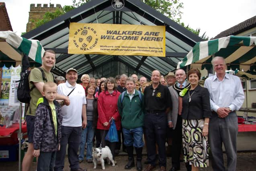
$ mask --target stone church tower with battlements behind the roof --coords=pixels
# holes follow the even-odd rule
[[[29,22],[27,23],[26,32],[29,32],[30,30],[33,30],[35,28],[35,23],[39,19],[43,19],[43,16],[46,12],[55,12],[57,8],[60,8],[62,10],[62,7],[60,4],[56,4],[56,7],[54,7],[54,4],[30,4],[30,11],[29,11]]]

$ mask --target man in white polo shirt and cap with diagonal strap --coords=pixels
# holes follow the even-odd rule
[[[68,144],[68,160],[71,171],[86,171],[79,167],[78,147],[81,142],[82,128],[87,125],[86,119],[86,97],[82,85],[76,84],[78,74],[76,69],[70,68],[66,72],[67,81],[58,85],[58,94],[68,96],[69,106],[62,106],[63,115],[61,125],[60,150],[57,151],[55,161],[55,171],[63,171],[66,147]],[[83,121],[82,121],[83,118]]]

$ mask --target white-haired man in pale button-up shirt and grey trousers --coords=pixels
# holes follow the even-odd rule
[[[225,73],[227,65],[224,58],[217,56],[213,58],[212,64],[216,74],[205,80],[205,87],[210,93],[212,110],[209,122],[212,167],[216,171],[235,171],[238,135],[236,111],[244,102],[244,91],[238,76]],[[222,143],[227,154],[227,169],[223,162]]]

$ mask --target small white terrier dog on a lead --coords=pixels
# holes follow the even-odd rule
[[[105,164],[104,159],[108,161],[108,164],[110,164],[110,161],[112,162],[112,166],[115,166],[115,161],[113,160],[113,155],[109,149],[108,146],[105,146],[104,148],[93,148],[92,149],[92,157],[93,157],[93,169],[96,169],[97,163],[101,164],[101,167],[103,170],[105,170]]]

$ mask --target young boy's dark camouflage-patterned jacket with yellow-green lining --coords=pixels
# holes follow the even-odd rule
[[[62,113],[57,101],[53,101],[57,117],[57,136],[53,125],[51,107],[45,97],[38,99],[33,136],[34,149],[43,152],[57,151],[61,139]]]

